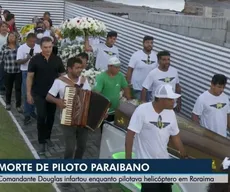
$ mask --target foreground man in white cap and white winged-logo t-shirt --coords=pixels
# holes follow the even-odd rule
[[[155,101],[141,104],[134,111],[126,135],[126,159],[131,159],[133,140],[137,159],[169,159],[169,138],[186,157],[179,135],[174,99],[180,95],[173,92],[169,84],[159,85],[155,90]],[[135,139],[134,139],[135,138]],[[142,192],[171,192],[170,183],[142,183]]]

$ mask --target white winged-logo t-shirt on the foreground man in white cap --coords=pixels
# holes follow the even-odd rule
[[[161,125],[161,126],[160,126]],[[152,102],[137,107],[133,113],[129,130],[136,133],[134,148],[137,159],[168,159],[167,146],[170,136],[179,133],[173,110],[156,113]]]

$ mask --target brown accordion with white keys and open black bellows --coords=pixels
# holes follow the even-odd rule
[[[62,110],[61,124],[92,131],[100,127],[110,107],[109,100],[101,94],[77,86],[65,87],[64,100],[66,108]]]

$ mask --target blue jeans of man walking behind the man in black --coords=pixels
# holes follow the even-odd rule
[[[24,116],[29,117],[32,113],[35,112],[35,107],[34,105],[30,105],[27,102],[26,79],[27,71],[22,71],[22,96],[24,100]]]

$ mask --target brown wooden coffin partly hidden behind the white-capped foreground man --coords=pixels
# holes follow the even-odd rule
[[[131,103],[122,102],[117,109],[126,117],[131,117],[136,106]],[[192,120],[177,115],[178,126],[180,128],[181,140],[185,145],[196,148],[210,155],[224,159],[230,157],[230,140],[216,134]]]

